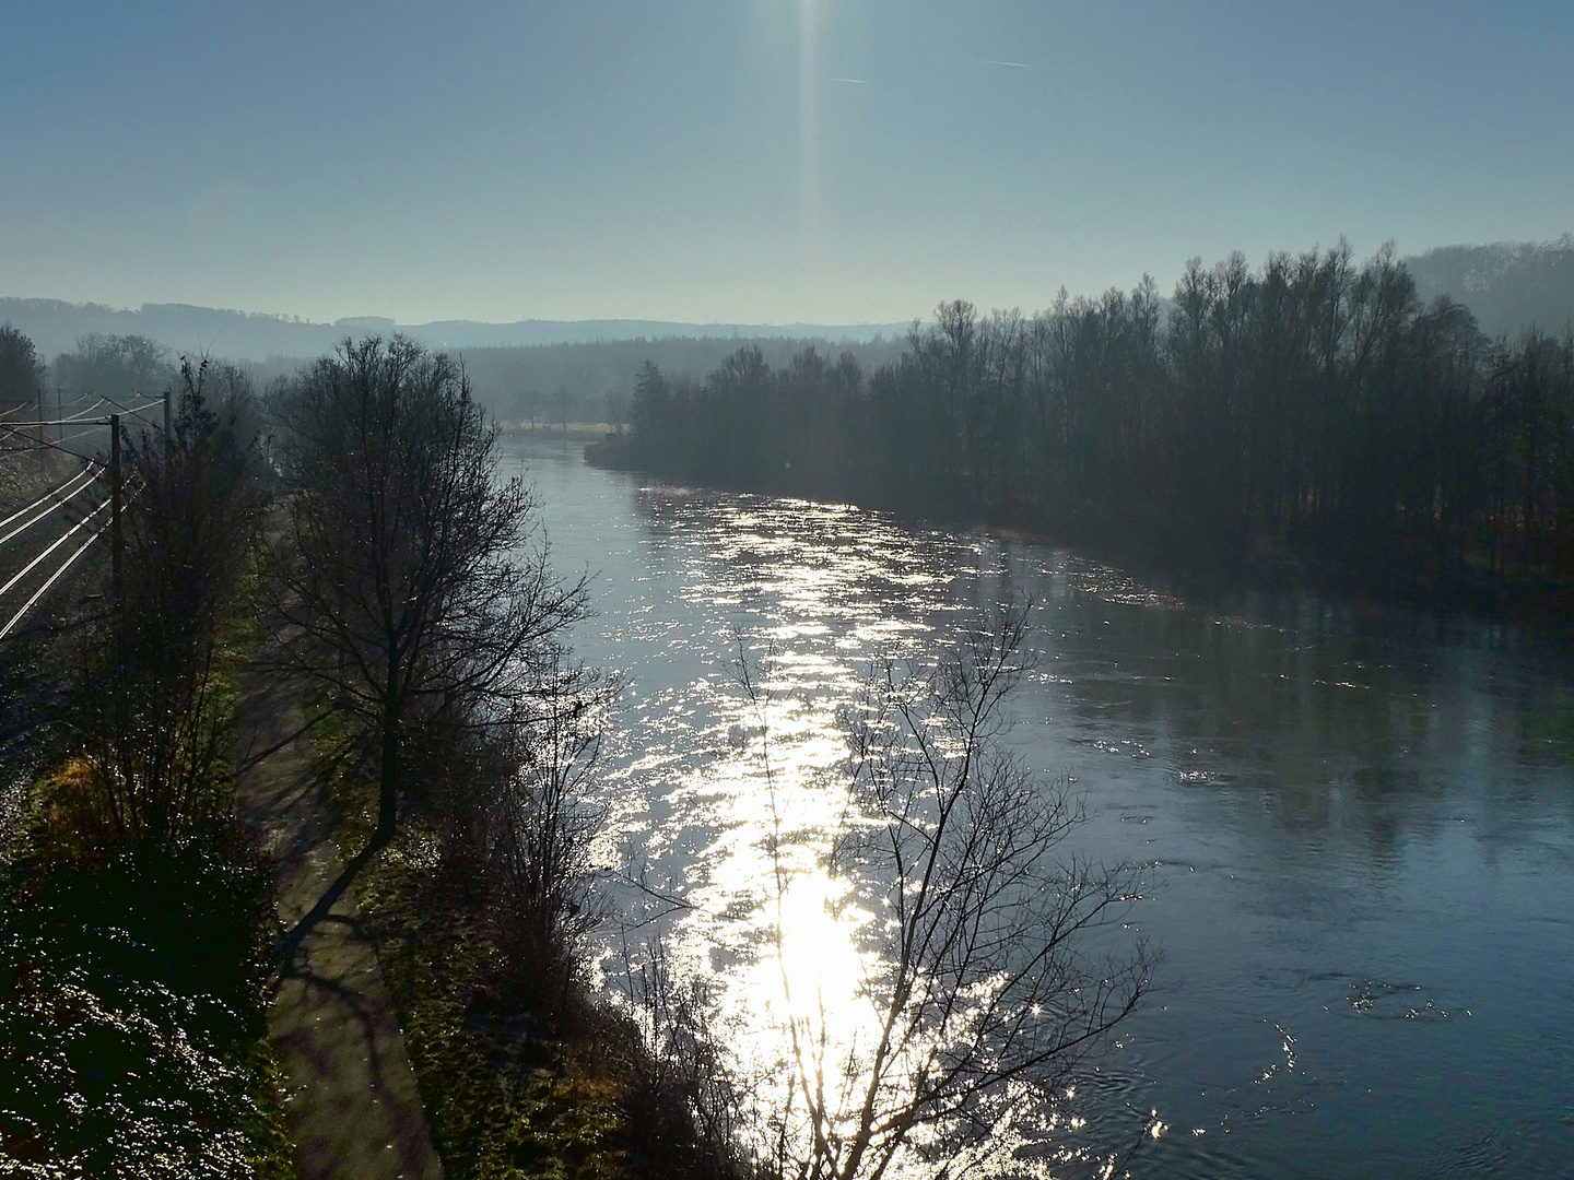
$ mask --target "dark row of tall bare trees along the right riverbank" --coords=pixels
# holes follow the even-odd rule
[[[1031,318],[943,304],[866,373],[647,363],[592,458],[1402,588],[1574,577],[1574,340],[1489,340],[1390,250],[1188,264]]]

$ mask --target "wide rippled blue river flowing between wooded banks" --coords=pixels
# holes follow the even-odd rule
[[[664,928],[741,1059],[768,1068],[779,1037],[762,846],[790,829],[812,859],[837,821],[836,706],[870,659],[1011,593],[1039,606],[1009,741],[1084,795],[1077,853],[1146,865],[1118,935],[1163,953],[1084,1070],[1088,1122],[1064,1133],[1081,1158],[1140,1144],[1136,1177],[1574,1175],[1565,650],[664,488],[589,467],[578,445],[512,437],[505,453],[537,488],[557,570],[593,574],[576,650],[625,680],[595,802],[603,857],[645,892],[611,886],[606,938]],[[740,637],[770,653],[768,702],[738,684]],[[669,908],[652,895],[686,908],[656,922]],[[853,971],[823,908],[785,913],[795,969]]]

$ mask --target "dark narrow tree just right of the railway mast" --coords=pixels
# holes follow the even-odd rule
[[[216,412],[206,362],[181,365],[168,439],[127,441],[123,599],[80,691],[82,790],[74,817],[98,846],[170,842],[233,810],[224,776],[224,628],[244,606],[264,496],[255,447],[236,437],[249,406]]]

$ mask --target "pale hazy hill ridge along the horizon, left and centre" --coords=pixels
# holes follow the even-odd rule
[[[0,299],[0,324],[11,323],[31,337],[39,356],[54,359],[88,332],[142,335],[176,354],[206,352],[230,360],[266,362],[279,357],[315,357],[346,335],[403,332],[436,349],[521,348],[601,340],[710,338],[826,338],[850,343],[877,335],[900,335],[908,324],[678,324],[660,319],[519,319],[483,324],[439,319],[397,324],[382,316],[351,316],[315,324],[296,316],[230,312],[189,304],[143,304],[137,310],[104,304],[68,304],[60,299]]]

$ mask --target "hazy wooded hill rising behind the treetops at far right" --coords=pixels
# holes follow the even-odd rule
[[[1516,337],[1532,324],[1563,332],[1574,323],[1574,234],[1555,242],[1440,245],[1404,264],[1423,299],[1451,296],[1491,337]]]

